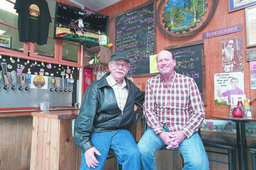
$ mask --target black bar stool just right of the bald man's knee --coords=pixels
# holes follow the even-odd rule
[[[207,147],[213,147],[213,148],[219,148],[223,150],[227,150],[227,153],[225,152],[215,152],[215,151],[208,151],[215,154],[222,154],[222,155],[228,155],[228,162],[224,162],[217,159],[211,159],[208,158],[211,161],[219,162],[219,163],[225,163],[229,165],[229,170],[236,170],[236,146],[237,146],[237,140],[233,137],[226,137],[226,136],[217,136],[217,135],[201,135],[200,129],[199,129],[199,135],[201,137],[201,140],[203,142],[204,146]]]

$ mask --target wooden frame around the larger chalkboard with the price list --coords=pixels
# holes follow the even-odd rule
[[[144,3],[144,4],[141,4],[141,5],[137,6],[137,7],[134,7],[134,8],[132,8],[132,9],[130,9],[130,10],[121,12],[121,13],[116,14],[116,15],[114,15],[114,16],[111,17],[111,20],[112,20],[112,19],[116,19],[118,16],[121,16],[121,15],[124,15],[124,14],[126,14],[126,13],[129,13],[129,12],[132,12],[132,11],[135,11],[135,10],[138,10],[139,8],[142,8],[142,7],[145,7],[145,6],[149,5],[149,4],[154,3],[154,4],[153,4],[153,19],[154,19],[154,23],[153,23],[153,25],[154,25],[154,48],[153,48],[153,54],[156,54],[156,52],[157,52],[157,34],[156,34],[157,24],[155,23],[155,19],[156,19],[156,10],[157,10],[156,1],[157,1],[157,0],[150,0],[150,1],[147,1],[147,2]],[[111,21],[111,20],[110,20],[110,21]],[[116,22],[116,21],[114,21],[114,22]],[[115,29],[116,29],[116,24],[114,24],[114,30],[115,30]],[[115,36],[116,36],[116,34],[114,34],[114,37],[115,37]],[[114,39],[115,39],[115,38],[114,38]],[[115,45],[114,45],[114,46],[115,46]],[[113,48],[114,48],[114,46],[113,46]],[[140,74],[140,75],[129,75],[129,76],[127,76],[127,77],[138,78],[138,77],[155,76],[155,75],[158,75],[158,74],[159,74],[159,73],[146,73],[146,74]]]

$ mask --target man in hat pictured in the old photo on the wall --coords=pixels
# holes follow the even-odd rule
[[[234,60],[234,48],[232,48],[234,44],[233,40],[229,40],[225,49],[222,50],[222,67],[224,72],[232,72],[233,71],[233,60]]]

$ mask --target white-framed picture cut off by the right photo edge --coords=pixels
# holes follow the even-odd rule
[[[246,46],[256,46],[256,5],[245,8]]]

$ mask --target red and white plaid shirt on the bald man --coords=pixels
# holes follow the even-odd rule
[[[162,75],[147,80],[144,102],[145,117],[155,133],[181,131],[187,137],[195,133],[204,120],[205,110],[194,79],[174,74],[165,83]]]

